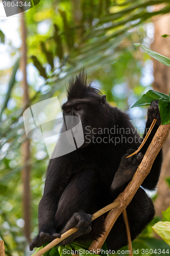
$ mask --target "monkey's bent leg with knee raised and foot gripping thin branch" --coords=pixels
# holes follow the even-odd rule
[[[91,214],[98,210],[96,207],[97,184],[97,174],[92,169],[86,169],[72,177],[66,186],[60,198],[55,216],[56,230],[59,233],[63,233],[74,226],[79,228],[79,230],[63,241],[62,245],[68,244],[75,238],[89,233],[91,226],[95,234],[99,233],[95,227],[93,228],[94,224],[91,224]],[[99,224],[99,228],[100,226]],[[96,235],[93,235],[92,238],[90,236],[87,238],[93,239],[94,237]],[[83,240],[86,240],[84,236]]]

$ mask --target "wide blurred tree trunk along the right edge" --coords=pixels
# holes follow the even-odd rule
[[[168,58],[170,58],[170,37],[161,37],[164,34],[170,35],[170,14],[165,14],[154,19],[155,40],[151,49]],[[156,91],[169,94],[170,91],[170,68],[159,61],[152,59],[154,63],[154,83],[153,88]],[[161,211],[169,207],[170,189],[165,181],[170,177],[170,136],[168,136],[163,147],[163,165],[161,177],[158,182],[157,199],[155,201],[156,215],[162,216]]]

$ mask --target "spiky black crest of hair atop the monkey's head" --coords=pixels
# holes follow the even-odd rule
[[[67,87],[67,98],[68,100],[82,99],[90,94],[102,95],[98,89],[91,87],[91,83],[87,84],[87,73],[83,69],[78,75],[70,78]]]

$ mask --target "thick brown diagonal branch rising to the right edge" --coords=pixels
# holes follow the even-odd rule
[[[163,144],[165,143],[167,136],[170,131],[170,123],[166,125],[160,125],[158,130],[148,147],[147,152],[145,153],[140,165],[138,166],[136,173],[134,174],[132,180],[129,182],[125,190],[114,200],[114,202],[119,202],[122,204],[122,207],[116,207],[109,212],[105,219],[105,230],[106,232],[98,239],[98,241],[93,241],[89,247],[89,250],[98,248],[102,249],[102,246],[112,229],[115,221],[118,216],[126,209],[128,204],[132,201],[136,191],[141,186],[145,177],[150,173],[153,162],[161,150]]]

